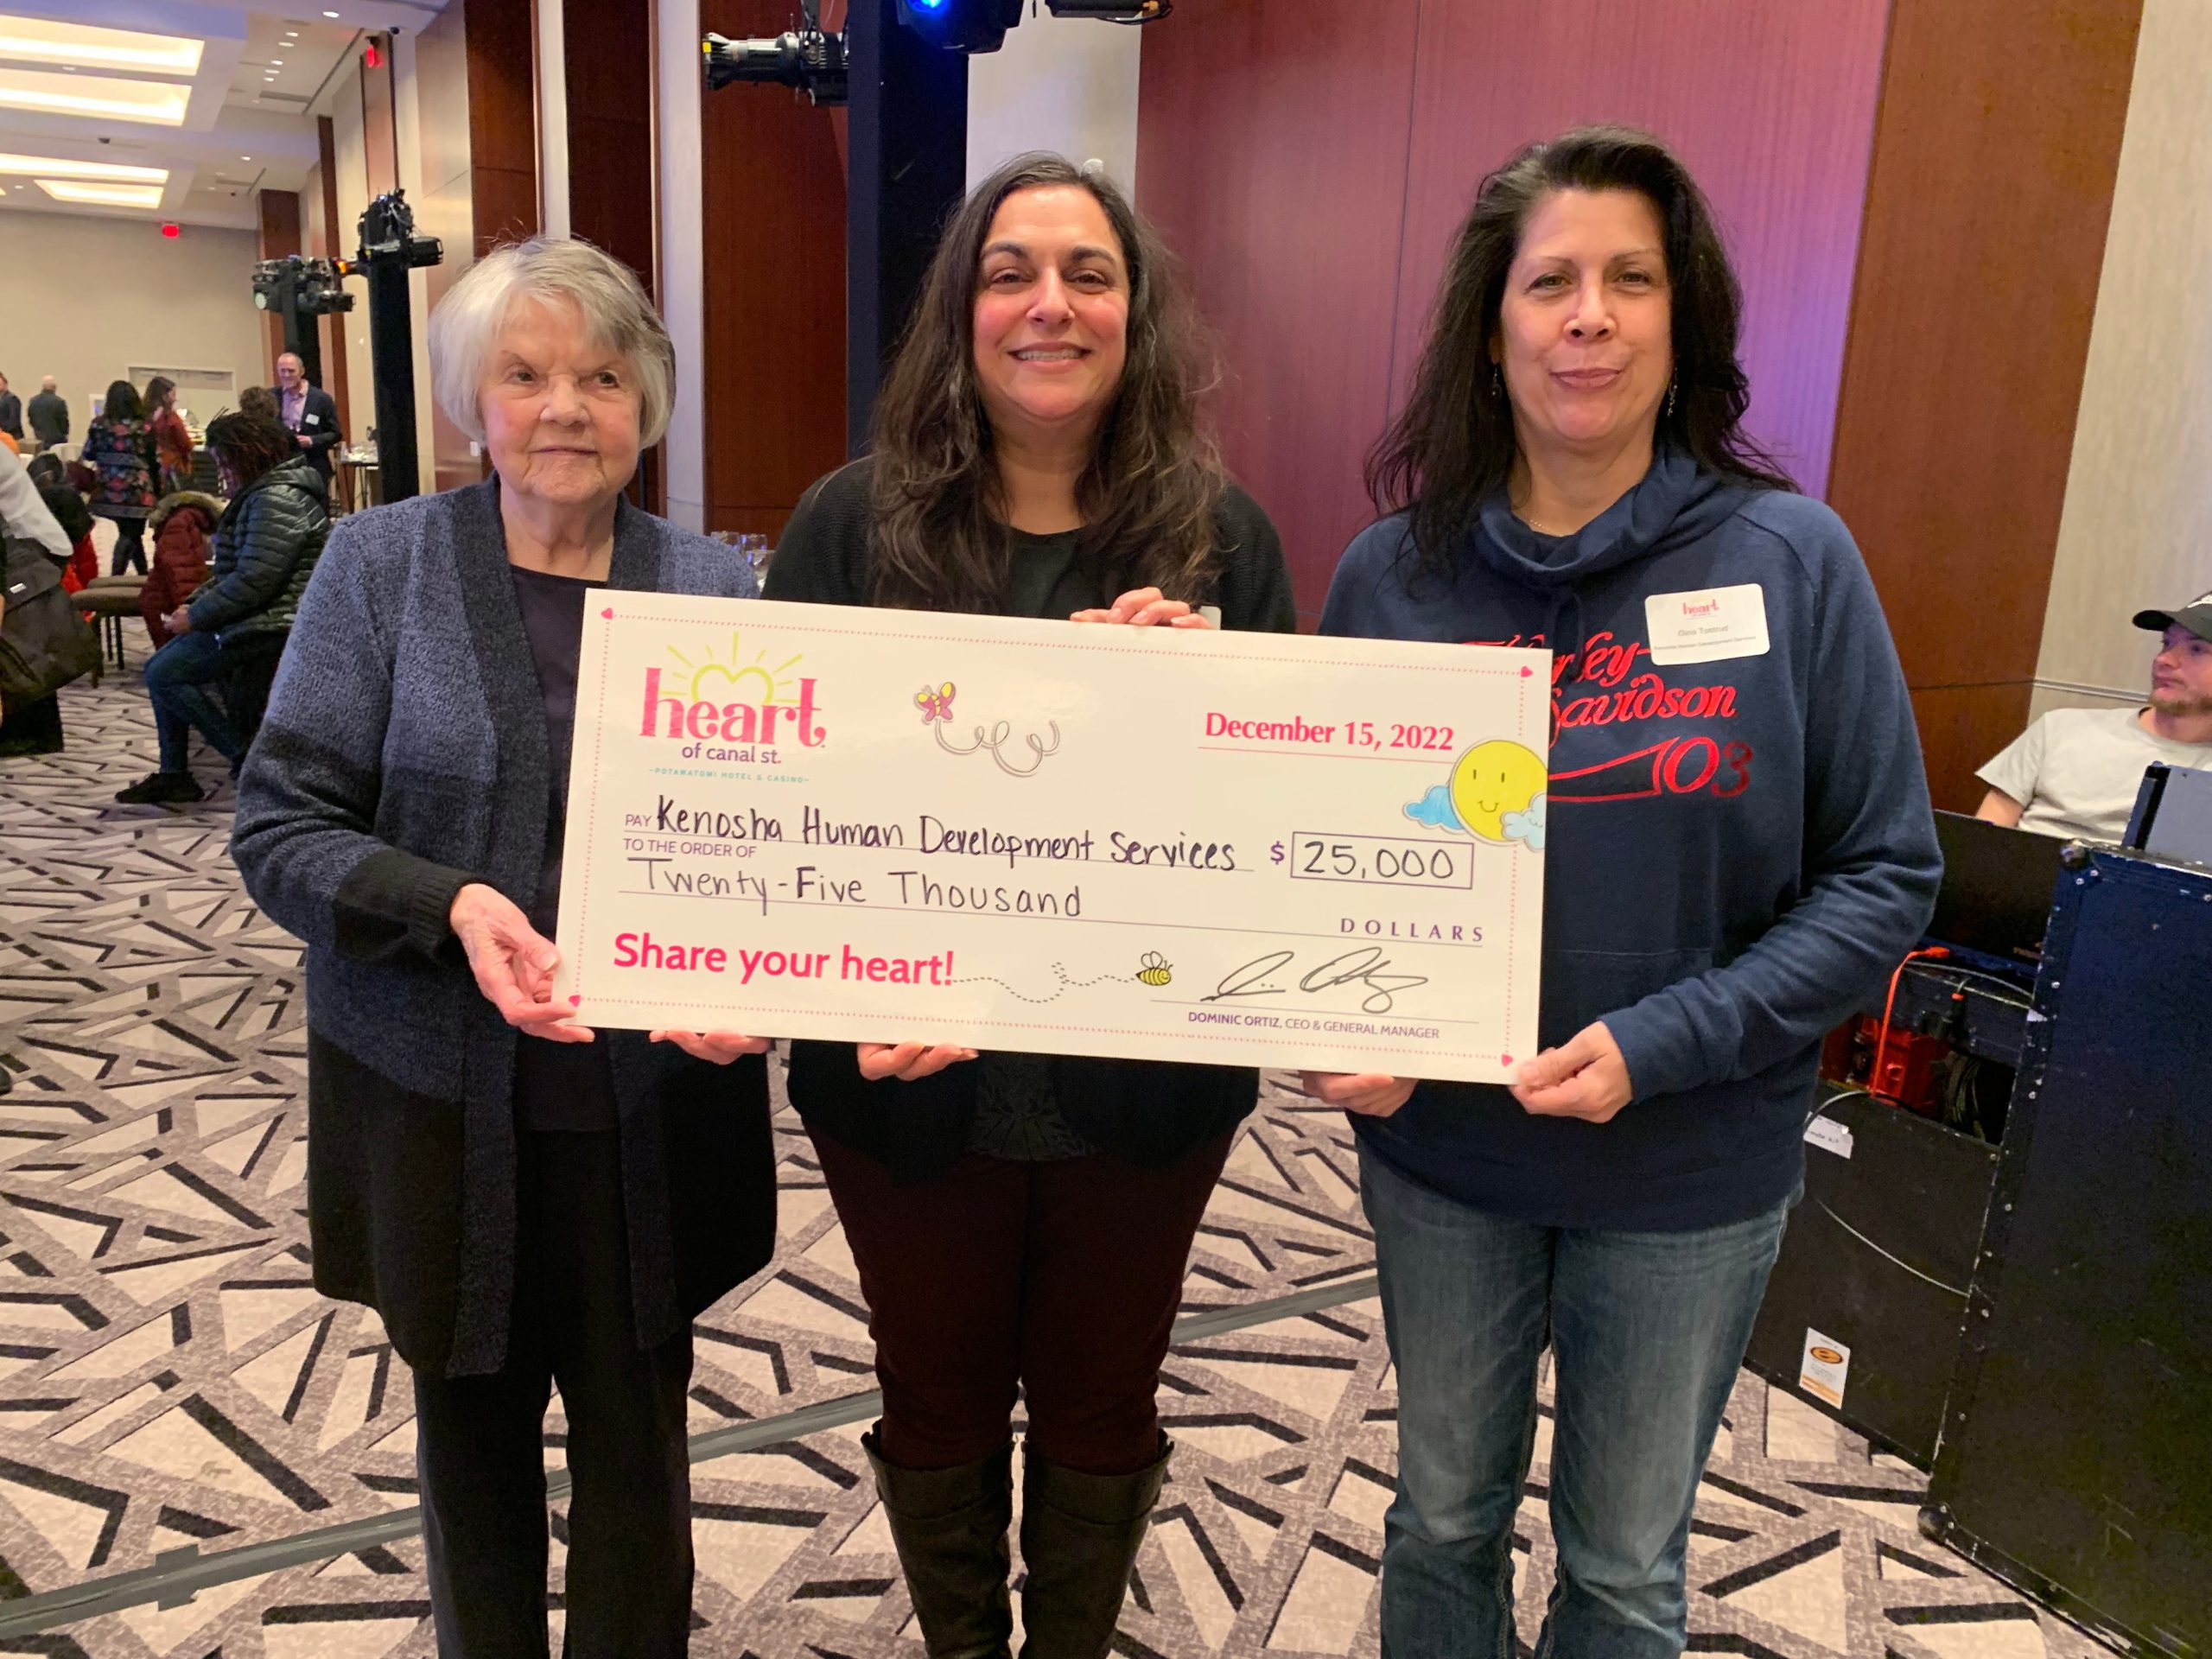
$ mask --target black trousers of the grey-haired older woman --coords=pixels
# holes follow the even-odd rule
[[[630,1321],[615,1130],[520,1133],[520,1256],[507,1367],[416,1371],[416,1469],[442,1659],[546,1650],[544,1413],[568,1418],[566,1644],[659,1659],[690,1639],[690,1327],[653,1349]]]

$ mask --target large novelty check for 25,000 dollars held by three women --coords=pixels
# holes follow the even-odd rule
[[[586,1024],[1504,1079],[1542,650],[595,595]]]

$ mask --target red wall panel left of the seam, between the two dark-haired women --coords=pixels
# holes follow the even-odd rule
[[[1283,535],[1307,626],[1371,518],[1418,13],[1219,0],[1144,38],[1137,201],[1221,336],[1223,451]]]

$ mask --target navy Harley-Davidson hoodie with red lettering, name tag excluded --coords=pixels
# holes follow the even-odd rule
[[[1646,597],[1754,584],[1767,648],[1657,666]],[[1422,1084],[1354,1117],[1398,1172],[1559,1228],[1743,1221],[1803,1179],[1820,1037],[1927,927],[1942,858],[1920,741],[1849,531],[1805,495],[1661,451],[1575,535],[1504,498],[1449,580],[1405,515],[1345,551],[1327,635],[1553,650],[1540,1040],[1604,1020],[1635,1091],[1608,1124]]]

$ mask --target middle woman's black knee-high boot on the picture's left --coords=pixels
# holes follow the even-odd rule
[[[1013,1522],[1013,1447],[958,1469],[885,1462],[876,1433],[860,1438],[891,1522],[898,1566],[929,1659],[1006,1659],[1006,1526]],[[1026,1533],[1024,1533],[1026,1537]]]

